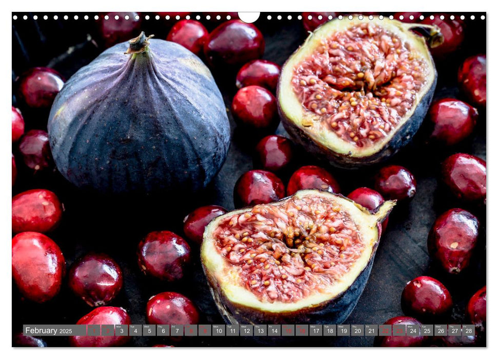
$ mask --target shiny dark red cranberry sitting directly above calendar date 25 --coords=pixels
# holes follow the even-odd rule
[[[451,294],[440,281],[420,276],[406,284],[401,294],[401,307],[407,315],[419,319],[443,317],[453,306]]]

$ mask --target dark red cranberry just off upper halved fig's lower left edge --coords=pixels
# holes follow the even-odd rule
[[[293,147],[290,139],[278,135],[266,136],[256,145],[254,165],[272,172],[281,172],[292,161]]]

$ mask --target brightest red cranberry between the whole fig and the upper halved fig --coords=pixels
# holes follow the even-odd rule
[[[232,101],[232,115],[238,125],[251,130],[274,131],[280,121],[275,96],[261,86],[238,90]]]

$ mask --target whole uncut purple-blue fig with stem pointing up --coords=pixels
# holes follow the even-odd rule
[[[124,55],[129,43],[107,49],[57,96],[48,122],[57,169],[96,194],[200,191],[228,154],[221,92],[206,65],[183,46],[145,34],[134,40],[143,52]]]

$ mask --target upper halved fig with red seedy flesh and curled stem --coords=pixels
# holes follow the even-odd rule
[[[419,129],[437,73],[437,27],[384,18],[332,20],[287,60],[277,87],[284,127],[339,167],[384,161]]]

